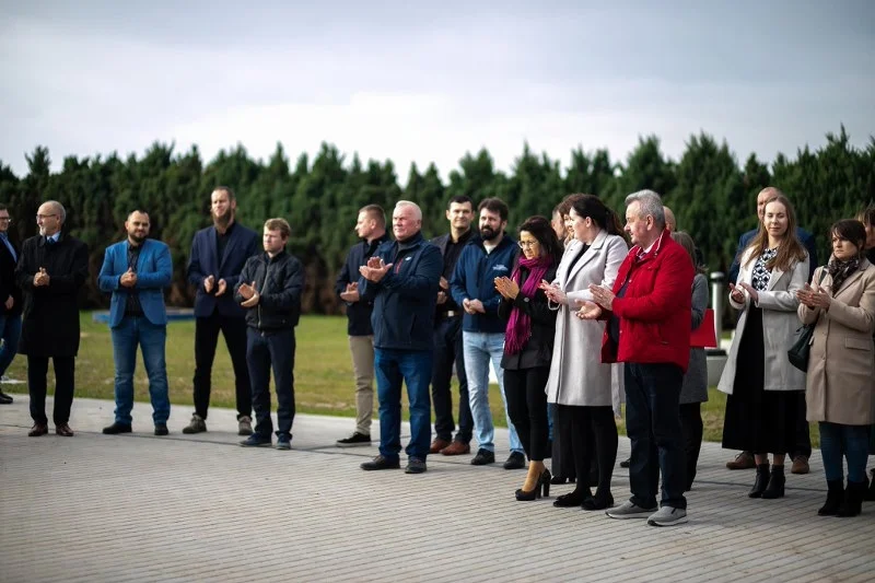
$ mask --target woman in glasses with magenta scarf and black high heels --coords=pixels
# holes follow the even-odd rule
[[[549,448],[544,386],[550,372],[556,313],[547,307],[539,284],[556,276],[562,246],[550,221],[530,217],[520,226],[520,248],[511,277],[495,278],[495,290],[502,296],[499,316],[508,320],[501,359],[508,415],[528,456],[528,475],[516,490],[516,499],[523,501],[550,493],[550,471],[544,465]]]

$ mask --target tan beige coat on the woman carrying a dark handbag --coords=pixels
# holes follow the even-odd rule
[[[814,281],[824,269],[815,271]],[[829,273],[821,287],[831,292]],[[875,266],[863,260],[841,284],[829,311],[803,304],[798,316],[805,324],[817,318],[805,393],[808,421],[844,425],[875,422]]]

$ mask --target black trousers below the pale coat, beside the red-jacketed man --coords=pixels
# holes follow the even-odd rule
[[[617,423],[614,409],[606,407],[578,407],[558,405],[556,408],[559,439],[571,444],[574,471],[578,475],[575,491],[590,489],[588,475],[593,456],[598,464],[598,490],[610,491],[610,478],[617,462]]]

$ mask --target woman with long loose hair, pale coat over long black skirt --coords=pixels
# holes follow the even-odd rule
[[[786,355],[800,326],[796,292],[808,277],[808,255],[795,233],[790,201],[771,197],[759,231],[742,253],[738,281],[730,283],[730,304],[742,317],[718,385],[730,395],[723,447],[754,452],[757,478],[750,498],[784,495],[784,457],[793,448],[804,398],[805,373]]]

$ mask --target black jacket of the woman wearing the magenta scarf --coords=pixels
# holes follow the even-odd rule
[[[551,266],[544,279],[553,281],[557,267],[557,265]],[[521,271],[520,279],[525,283],[526,279],[528,279],[528,270],[522,268]],[[522,287],[520,285],[521,289]],[[501,368],[518,371],[534,369],[535,366],[549,366],[556,339],[556,311],[547,306],[547,295],[542,290],[538,290],[535,293],[535,298],[528,301],[525,301],[522,293],[517,294],[513,301],[502,298],[499,304],[499,317],[505,325],[514,306],[528,314],[532,322],[532,336],[528,337],[528,341],[523,346],[523,350],[516,354],[509,354],[505,349],[504,354],[501,357]]]

